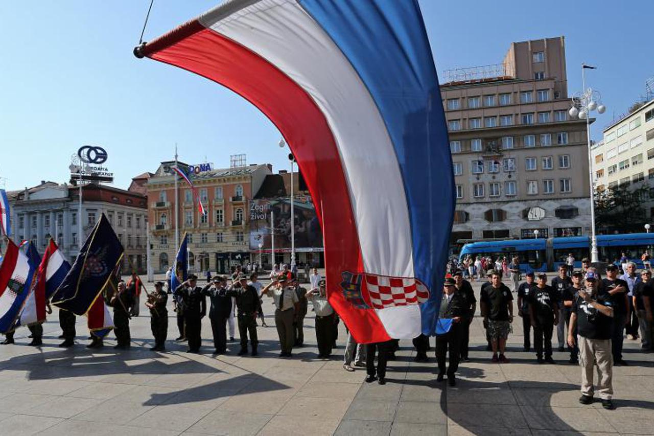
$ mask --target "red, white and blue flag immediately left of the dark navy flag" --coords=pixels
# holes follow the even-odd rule
[[[50,239],[39,264],[35,282],[20,312],[18,325],[33,325],[46,320],[46,301],[61,285],[70,269],[71,264],[63,257],[57,244]]]

